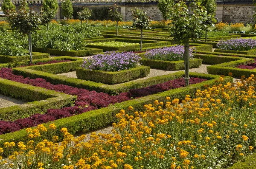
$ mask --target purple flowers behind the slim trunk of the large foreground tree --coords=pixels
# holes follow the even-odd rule
[[[189,56],[192,58],[193,49],[189,49]],[[184,59],[184,46],[177,45],[164,48],[155,48],[145,53],[145,58],[166,60],[166,61],[179,61]]]

